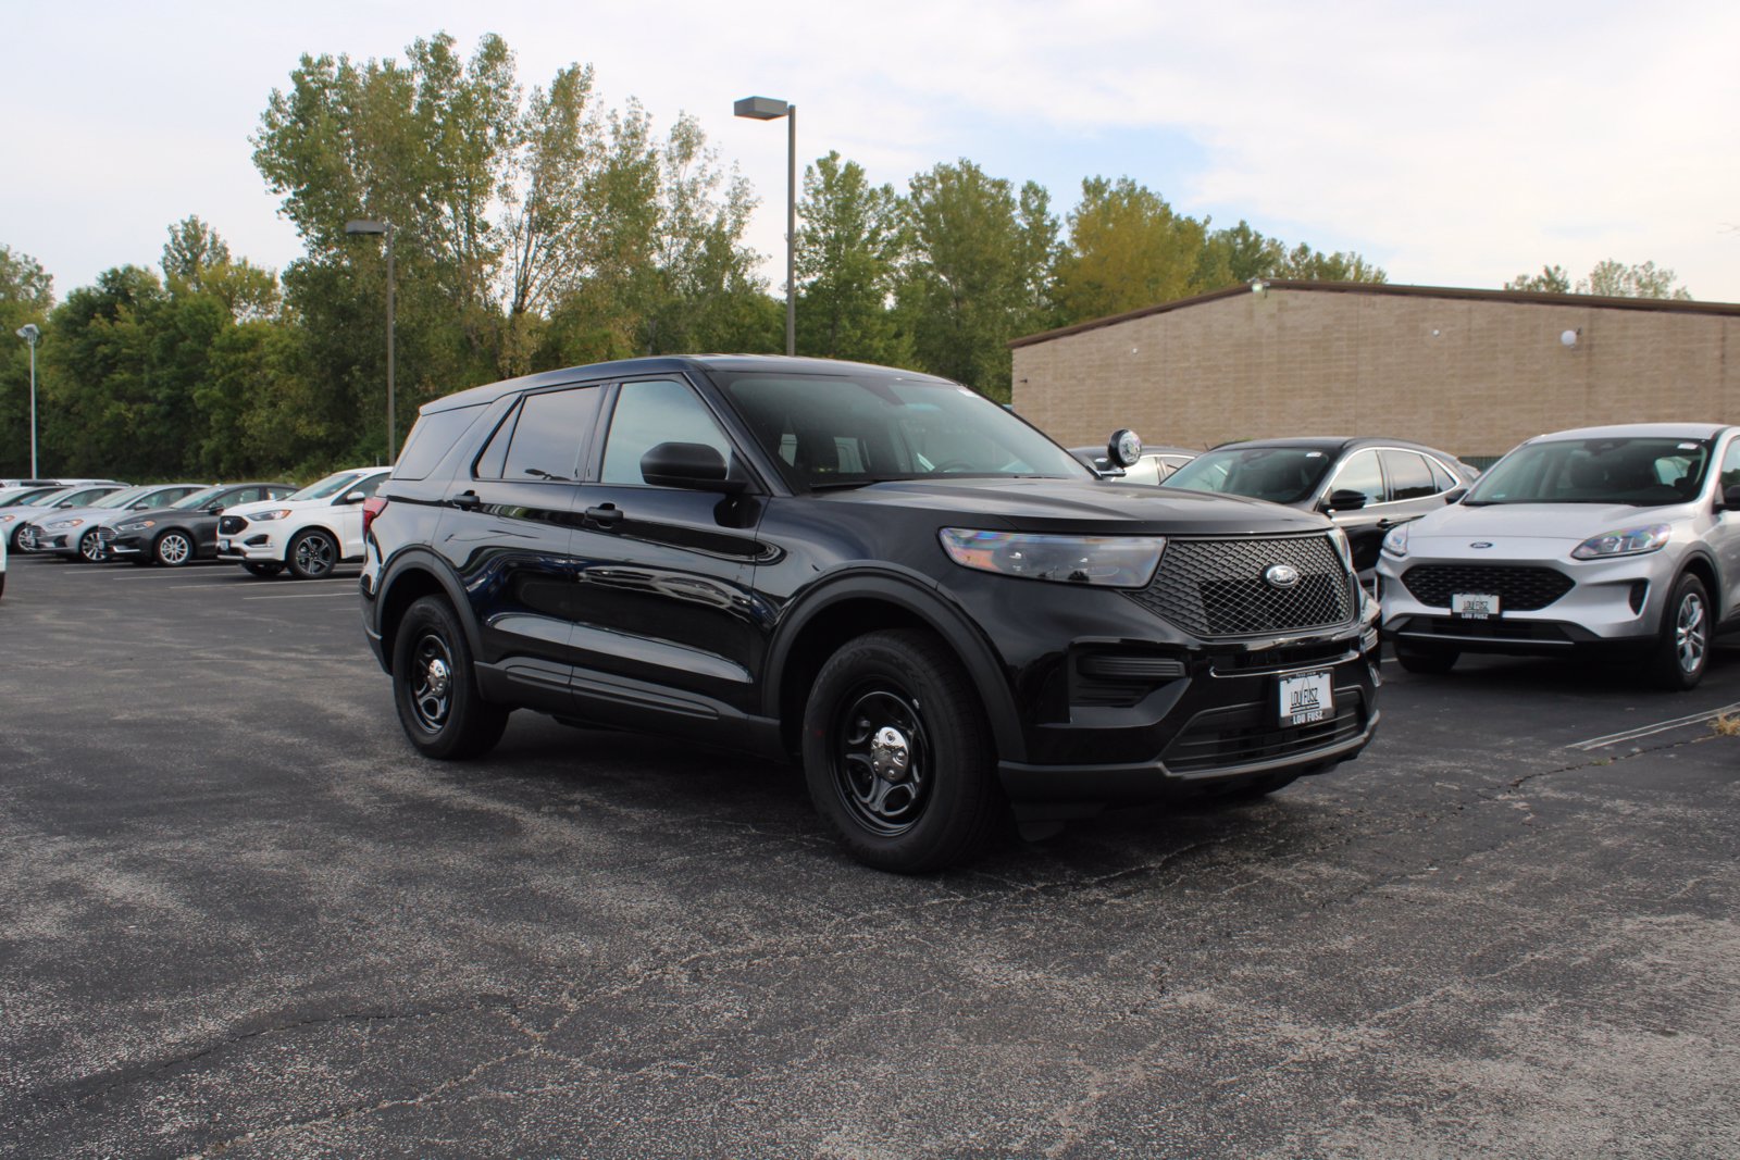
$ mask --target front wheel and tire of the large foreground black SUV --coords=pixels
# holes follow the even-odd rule
[[[868,866],[922,873],[978,854],[1002,814],[995,763],[973,680],[929,633],[868,633],[816,675],[804,779]]]

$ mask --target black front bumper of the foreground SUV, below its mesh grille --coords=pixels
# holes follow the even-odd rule
[[[1368,607],[1359,623],[1315,635],[1190,649],[1075,642],[1053,690],[1067,710],[1053,697],[1027,729],[1032,760],[997,765],[1016,817],[1263,793],[1357,757],[1376,732],[1382,683]]]

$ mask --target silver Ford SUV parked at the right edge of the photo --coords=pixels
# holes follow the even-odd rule
[[[1463,652],[1629,652],[1691,689],[1740,628],[1740,428],[1637,423],[1531,438],[1462,503],[1390,529],[1383,633],[1413,673]]]

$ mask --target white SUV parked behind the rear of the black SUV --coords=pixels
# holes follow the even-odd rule
[[[284,569],[298,579],[331,576],[339,563],[362,560],[362,501],[392,471],[334,471],[285,499],[230,508],[218,520],[218,558],[254,576]]]

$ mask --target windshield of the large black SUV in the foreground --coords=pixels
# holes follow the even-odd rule
[[[720,383],[762,449],[809,489],[938,475],[1093,478],[1070,452],[955,383],[872,369]]]

